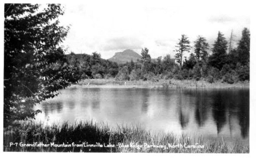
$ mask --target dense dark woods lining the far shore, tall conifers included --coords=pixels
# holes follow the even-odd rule
[[[231,43],[230,39],[229,43]],[[249,81],[250,33],[247,28],[242,31],[238,45],[232,46],[219,32],[210,46],[206,38],[198,36],[193,44],[186,35],[181,35],[176,46],[175,58],[170,54],[150,57],[149,49],[141,50],[141,59],[117,64],[100,58],[99,53],[67,55],[69,63],[80,68],[82,79],[116,80],[151,80],[159,79],[193,79],[207,82]],[[229,47],[229,51],[227,50]],[[184,56],[190,54],[189,57]]]

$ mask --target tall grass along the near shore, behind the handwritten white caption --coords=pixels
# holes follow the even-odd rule
[[[49,144],[48,147],[22,147],[20,143],[33,145],[35,142]],[[13,143],[10,147],[10,143]],[[17,145],[15,144],[17,143]],[[51,143],[60,146],[50,146]],[[69,147],[63,147],[70,145]],[[72,146],[81,145],[81,146]],[[114,147],[85,147],[85,145],[114,145]],[[118,143],[123,145],[118,146]],[[123,144],[122,144],[123,143]],[[129,146],[134,143],[137,146]],[[144,146],[156,145],[156,146]],[[204,148],[170,148],[169,145],[204,145]],[[37,122],[22,122],[19,125],[4,128],[4,151],[45,151],[45,152],[175,152],[175,153],[249,153],[249,141],[236,141],[228,145],[223,139],[205,140],[203,136],[190,136],[183,134],[179,137],[172,133],[151,133],[140,125],[117,125],[110,129],[107,124],[94,123],[93,121],[69,124],[43,125]],[[22,144],[22,145],[23,145]],[[125,146],[128,145],[128,146]],[[141,145],[141,147],[139,146]],[[161,148],[157,145],[166,145]]]

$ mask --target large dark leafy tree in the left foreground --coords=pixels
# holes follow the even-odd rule
[[[34,118],[37,103],[76,82],[78,68],[69,66],[60,47],[69,28],[59,26],[59,4],[4,6],[4,126]]]

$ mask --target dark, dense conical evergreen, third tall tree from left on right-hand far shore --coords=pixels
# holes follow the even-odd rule
[[[213,44],[213,54],[209,58],[211,66],[221,70],[227,61],[227,41],[224,35],[219,31],[218,37]]]

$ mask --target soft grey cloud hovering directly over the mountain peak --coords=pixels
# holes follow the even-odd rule
[[[143,46],[143,42],[137,38],[128,37],[117,37],[113,39],[108,39],[106,41],[103,50],[117,50],[117,49],[140,49]]]

